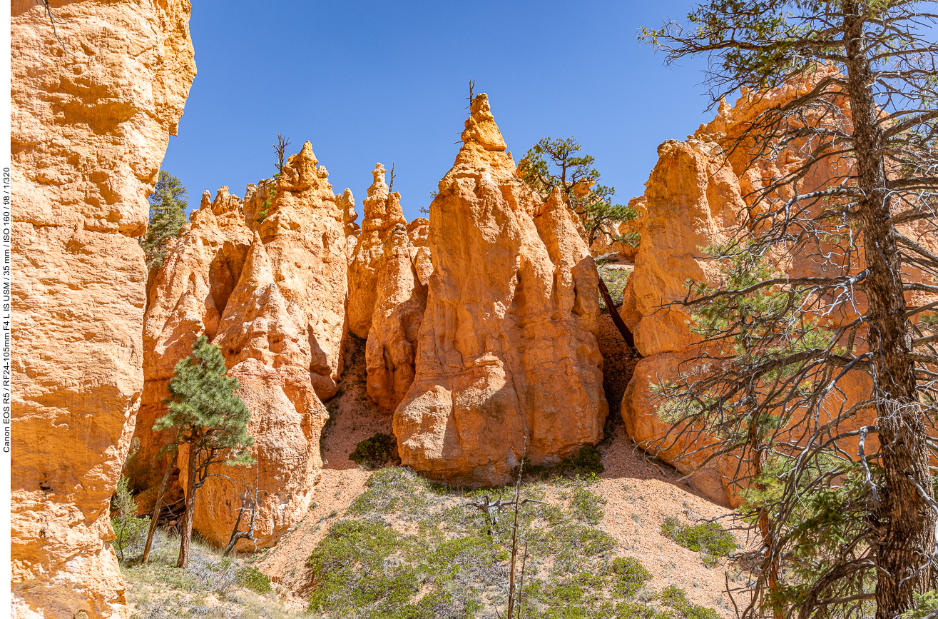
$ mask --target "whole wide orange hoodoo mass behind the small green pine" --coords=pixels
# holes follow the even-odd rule
[[[153,422],[166,413],[174,365],[204,333],[242,385],[257,460],[250,470],[225,467],[226,478],[210,479],[196,494],[194,528],[219,544],[227,544],[241,498],[254,487],[257,545],[275,544],[302,517],[322,468],[322,400],[336,391],[345,321],[343,218],[355,204],[348,190],[332,193],[317,164],[307,142],[276,187],[272,180],[249,185],[244,200],[227,187],[211,202],[206,193],[152,278],[134,481],[159,483],[156,454],[169,437],[154,436]],[[184,453],[177,463],[185,467]],[[146,471],[150,479],[140,479]],[[237,548],[255,547],[241,540]]]

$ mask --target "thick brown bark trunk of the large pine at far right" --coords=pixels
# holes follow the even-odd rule
[[[905,314],[896,229],[889,223],[883,132],[877,125],[868,52],[864,49],[864,13],[857,2],[844,3],[847,81],[854,121],[857,185],[865,193],[859,204],[866,267],[870,351],[878,353],[875,369],[877,413],[881,427],[885,477],[879,519],[885,521],[875,549],[878,578],[876,619],[895,619],[913,608],[913,594],[924,593],[934,549],[935,516],[929,503],[906,477],[931,492],[927,428],[915,397],[915,367],[909,358],[912,338]],[[921,568],[921,569],[920,569]],[[919,571],[920,570],[920,571]],[[904,581],[903,581],[904,580]]]

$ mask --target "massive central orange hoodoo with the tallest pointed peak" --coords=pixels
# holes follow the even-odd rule
[[[404,464],[499,484],[602,438],[598,276],[560,193],[515,176],[489,100],[472,101],[431,204],[432,275],[416,376],[395,410]]]

